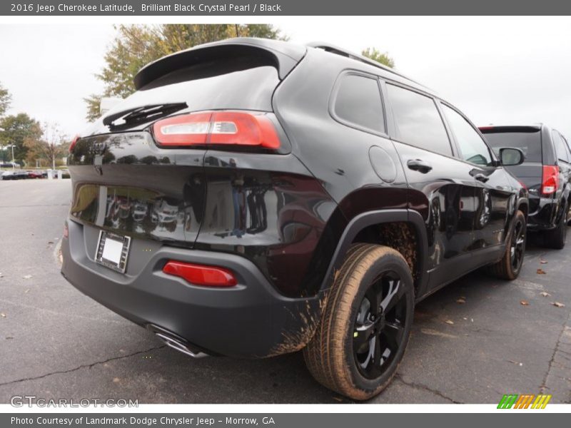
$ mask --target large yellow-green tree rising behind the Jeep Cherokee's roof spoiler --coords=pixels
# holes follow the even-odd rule
[[[278,29],[268,24],[120,25],[116,29],[118,34],[105,54],[106,65],[96,74],[104,83],[103,94],[93,93],[84,98],[88,121],[100,116],[101,97],[131,95],[135,91],[136,73],[162,56],[228,37],[285,39]]]

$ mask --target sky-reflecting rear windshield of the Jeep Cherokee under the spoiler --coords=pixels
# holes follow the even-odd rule
[[[272,94],[280,82],[276,68],[248,61],[236,62],[228,64],[212,61],[178,69],[143,86],[113,108],[113,111],[182,102],[188,104],[189,111],[272,111]]]

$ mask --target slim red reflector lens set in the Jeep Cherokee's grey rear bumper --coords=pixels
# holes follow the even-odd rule
[[[196,265],[171,260],[163,267],[163,272],[181,277],[192,285],[233,287],[238,284],[236,277],[230,270],[217,266]]]

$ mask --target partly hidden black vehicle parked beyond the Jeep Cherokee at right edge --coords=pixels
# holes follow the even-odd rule
[[[505,147],[523,151],[525,161],[507,169],[529,190],[527,228],[542,231],[545,245],[564,248],[571,190],[571,152],[565,138],[542,124],[482,126],[480,131],[496,153]]]

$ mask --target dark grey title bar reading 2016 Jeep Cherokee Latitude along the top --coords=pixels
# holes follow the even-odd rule
[[[567,15],[561,0],[2,1],[1,16]]]

